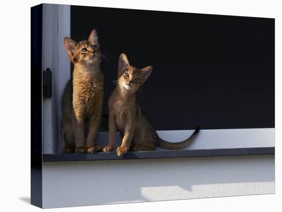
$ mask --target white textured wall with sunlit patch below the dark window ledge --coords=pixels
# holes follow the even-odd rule
[[[43,163],[43,207],[271,194],[274,156]]]

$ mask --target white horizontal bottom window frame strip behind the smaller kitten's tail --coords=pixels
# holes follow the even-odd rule
[[[168,130],[157,131],[157,134],[169,142],[179,142],[187,139],[193,132],[194,130]],[[108,132],[100,132],[96,142],[106,146],[108,137]],[[194,142],[182,150],[274,147],[274,137],[274,128],[200,130]],[[116,149],[122,143],[118,132],[115,141]],[[156,150],[164,149],[157,147]]]

